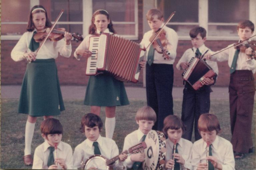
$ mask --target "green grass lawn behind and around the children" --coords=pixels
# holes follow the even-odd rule
[[[64,100],[66,110],[60,116],[55,118],[59,119],[63,125],[64,133],[62,141],[71,145],[74,148],[85,140],[85,136],[80,132],[80,122],[84,114],[90,112],[90,107],[83,105],[82,100]],[[130,100],[130,105],[117,107],[116,109],[116,128],[113,139],[122,151],[124,138],[127,134],[138,129],[138,125],[134,119],[137,110],[146,105],[146,101]],[[174,113],[181,116],[182,100],[174,100]],[[1,100],[1,166],[0,169],[31,169],[32,166],[25,166],[23,164],[24,154],[24,133],[27,116],[24,114],[17,114],[17,99],[2,99]],[[256,107],[254,107],[256,108]],[[255,113],[253,116],[252,135],[255,143]],[[229,103],[227,100],[212,100],[211,111],[212,114],[218,116],[222,133],[219,135],[231,139],[230,120],[229,120]],[[104,110],[102,109],[101,118],[105,121]],[[32,154],[35,148],[44,142],[40,133],[40,123],[43,118],[39,117],[35,125],[35,132],[32,141]],[[103,125],[102,136],[105,136]],[[194,137],[193,137],[194,138]],[[252,170],[256,169],[255,153],[246,154],[242,160],[236,160],[237,170]]]

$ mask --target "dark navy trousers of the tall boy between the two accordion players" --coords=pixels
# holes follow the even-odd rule
[[[173,66],[170,64],[146,64],[146,95],[147,105],[157,115],[153,130],[162,131],[163,120],[173,115]]]

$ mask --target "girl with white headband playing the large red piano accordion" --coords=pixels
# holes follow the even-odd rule
[[[115,33],[109,13],[105,10],[98,10],[91,18],[89,35],[85,37],[82,43],[76,48],[74,56],[77,60],[81,57],[90,57],[89,39],[93,35],[104,33]],[[115,130],[115,109],[116,106],[128,105],[129,101],[126,95],[124,83],[114,79],[107,72],[92,75],[88,81],[85,94],[85,105],[91,106],[91,113],[100,115],[100,107],[105,106],[105,130],[106,137],[113,137]]]

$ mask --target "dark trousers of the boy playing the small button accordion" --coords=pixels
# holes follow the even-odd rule
[[[197,122],[201,114],[210,111],[210,86],[203,86],[199,90],[194,90],[186,83],[183,90],[182,113],[181,120],[186,126],[186,131],[182,137],[190,140],[192,138],[193,127],[195,128],[195,140],[201,139],[201,135],[197,128]]]

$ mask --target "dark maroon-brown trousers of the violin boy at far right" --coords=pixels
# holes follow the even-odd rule
[[[229,107],[233,150],[248,153],[251,135],[255,85],[250,70],[236,70],[230,75]]]

